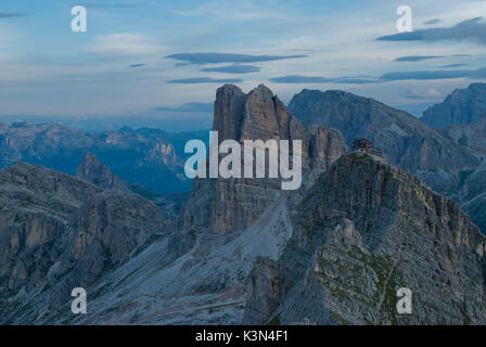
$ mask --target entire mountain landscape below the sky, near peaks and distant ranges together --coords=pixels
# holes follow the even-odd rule
[[[285,107],[228,85],[214,130],[303,140],[300,189],[195,179],[169,198],[144,175],[180,183],[187,134],[2,125],[0,323],[486,324],[483,118],[434,129],[342,91]],[[88,314],[68,309],[77,286]],[[412,314],[396,311],[400,287]]]

